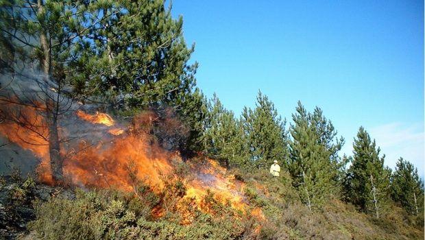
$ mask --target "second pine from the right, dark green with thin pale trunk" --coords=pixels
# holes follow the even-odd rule
[[[384,167],[385,155],[370,139],[363,127],[359,128],[353,143],[354,156],[348,169],[348,200],[361,211],[380,217],[389,204],[389,177],[391,169]]]

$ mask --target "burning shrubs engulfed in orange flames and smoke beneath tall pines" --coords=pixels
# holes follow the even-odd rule
[[[29,108],[25,111],[32,113]],[[40,115],[26,115],[43,121]],[[60,129],[61,135],[68,135],[66,138],[78,136],[77,143],[61,145],[62,172],[67,184],[84,189],[117,189],[131,193],[136,196],[132,205],[143,203],[143,206],[137,209],[131,206],[130,209],[147,219],[168,217],[169,213],[178,212],[182,215],[180,224],[186,225],[195,219],[193,209],[214,215],[225,209],[245,213],[243,182],[235,180],[214,160],[198,156],[184,162],[173,147],[173,151],[162,147],[174,145],[173,141],[184,135],[184,130],[183,133],[173,130],[180,123],[173,119],[171,111],[167,110],[165,115],[143,112],[130,124],[117,123],[105,113],[89,114],[82,110],[75,111],[70,118],[80,124],[84,134],[72,128]],[[1,125],[2,133],[41,158],[40,166],[44,166],[42,169],[46,171],[42,174],[38,171],[40,180],[55,184],[51,177],[53,173],[49,171],[49,154],[46,153],[48,141],[43,145],[27,143],[32,140],[27,141],[28,134],[15,134],[16,131],[29,131],[27,128],[20,124],[7,124]],[[160,125],[159,129],[164,132],[155,132],[155,125]],[[42,126],[40,124],[42,129],[29,133],[42,132]],[[232,211],[226,210],[226,213]]]

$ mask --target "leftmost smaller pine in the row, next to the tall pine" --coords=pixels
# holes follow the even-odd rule
[[[232,111],[223,107],[217,95],[208,104],[207,122],[205,143],[208,156],[226,167],[245,165],[241,124]]]

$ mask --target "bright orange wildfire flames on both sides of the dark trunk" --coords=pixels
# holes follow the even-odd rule
[[[36,131],[28,130],[17,122],[10,121],[0,123],[1,134],[8,136],[10,141],[23,149],[29,149],[41,158],[42,164],[38,168],[43,171],[39,171],[40,179],[53,183],[49,170],[47,136],[38,136],[38,139],[41,139],[39,145],[27,143],[34,139],[34,132],[48,134],[45,120],[37,115],[34,109],[25,108],[23,113],[22,116],[38,126]],[[142,181],[149,184],[155,191],[161,191],[165,187],[164,177],[175,175],[176,169],[173,162],[182,163],[180,154],[167,152],[158,144],[152,143],[151,136],[146,132],[137,132],[130,127],[127,130],[115,128],[114,119],[105,113],[96,112],[95,115],[89,115],[82,110],[77,110],[75,113],[84,121],[106,125],[108,127],[106,131],[111,134],[105,135],[103,142],[93,146],[84,140],[80,141],[73,147],[73,152],[71,151],[73,154],[69,154],[69,149],[62,147],[61,154],[67,156],[63,159],[64,176],[75,185],[132,192],[135,191],[136,181]],[[154,118],[149,116],[149,119]],[[189,175],[183,180],[186,191],[182,201],[193,200],[200,210],[210,211],[208,206],[203,205],[202,200],[208,191],[211,191],[215,194],[217,201],[223,204],[230,203],[232,208],[245,211],[243,183],[235,180],[234,176],[228,174],[226,169],[220,167],[215,160],[207,159],[203,163],[191,164]],[[160,217],[161,209],[156,208],[154,211],[156,211],[154,215]],[[186,210],[182,215],[189,216],[191,213]],[[190,217],[187,217],[182,224],[190,224],[190,222]]]

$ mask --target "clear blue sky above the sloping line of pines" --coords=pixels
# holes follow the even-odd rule
[[[319,106],[343,152],[363,125],[390,167],[424,171],[423,1],[175,0],[178,15],[207,97],[239,115],[260,89],[288,120]]]

